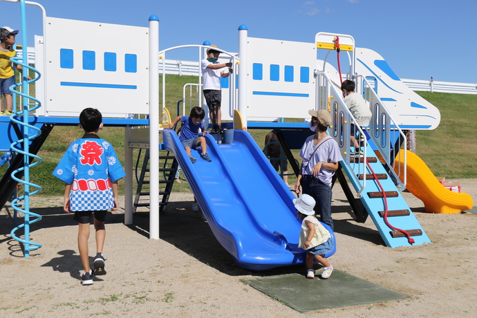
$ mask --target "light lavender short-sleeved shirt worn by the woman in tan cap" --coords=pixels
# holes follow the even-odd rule
[[[333,138],[327,136],[316,146],[313,142],[313,138],[315,138],[315,135],[310,135],[310,137],[306,138],[299,153],[299,156],[303,158],[303,167],[301,169],[302,176],[306,174],[311,175],[311,170],[320,161],[339,162],[343,160],[342,154],[339,152],[339,146]],[[319,147],[317,151],[315,151],[316,147]],[[315,153],[313,153],[313,151],[315,151]],[[312,153],[313,156],[310,158]],[[322,183],[330,186],[331,178],[333,178],[334,174],[335,170],[321,168],[317,177]]]

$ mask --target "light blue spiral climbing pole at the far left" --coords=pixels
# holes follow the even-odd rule
[[[21,76],[22,82],[10,86],[10,91],[12,92],[12,99],[14,101],[14,113],[10,116],[10,120],[21,125],[21,127],[23,128],[23,138],[12,142],[12,144],[10,145],[10,149],[12,149],[12,151],[16,151],[17,153],[21,153],[24,155],[24,166],[12,172],[12,178],[24,185],[24,195],[12,200],[12,207],[13,209],[15,209],[15,213],[23,212],[25,215],[25,219],[24,223],[15,227],[12,232],[10,232],[10,234],[12,238],[15,238],[15,240],[24,243],[24,254],[25,257],[28,257],[30,255],[30,250],[36,250],[37,248],[41,247],[41,244],[30,241],[30,225],[41,220],[41,216],[39,214],[30,212],[30,196],[33,196],[39,191],[41,191],[41,187],[39,185],[30,183],[30,167],[39,165],[39,163],[41,162],[41,158],[32,153],[29,153],[30,140],[35,139],[39,135],[41,135],[41,130],[28,123],[29,112],[35,111],[35,109],[38,109],[41,106],[41,102],[39,102],[39,100],[37,100],[35,97],[28,95],[28,84],[37,81],[40,77],[40,73],[35,68],[32,68],[28,65],[25,0],[19,0],[19,2],[21,8],[21,52],[23,56],[21,58],[13,57],[11,61],[15,64],[23,66],[24,71]],[[32,70],[37,74],[35,79],[28,80],[28,70]],[[22,88],[21,91],[17,90],[19,86],[21,86]],[[17,109],[17,95],[21,96],[23,109]],[[23,116],[23,118],[19,118],[19,116]],[[37,160],[30,164],[30,158]],[[15,176],[20,171],[24,171],[24,180],[21,180],[20,178],[17,178],[17,176]],[[31,192],[30,187],[34,189]],[[19,200],[24,200],[24,203],[20,203]],[[20,206],[23,206],[23,209]],[[33,216],[35,218],[30,221],[30,216]],[[22,227],[24,228],[24,239],[19,238],[15,235],[15,232]]]

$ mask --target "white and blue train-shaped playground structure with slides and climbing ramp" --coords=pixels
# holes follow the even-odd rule
[[[21,6],[32,4],[19,2]],[[22,21],[25,20],[26,17],[22,17]],[[399,149],[402,144],[406,149],[406,136],[402,129],[434,129],[440,122],[440,114],[429,102],[402,84],[380,55],[372,50],[356,48],[353,37],[320,32],[315,41],[310,43],[257,39],[248,37],[247,27],[240,26],[238,55],[221,50],[225,53],[222,58],[230,59],[234,67],[235,76],[230,77],[228,85],[223,85],[227,100],[223,108],[228,110],[223,113],[231,114],[231,118],[234,118],[234,140],[230,144],[216,144],[213,138],[207,136],[212,162],[198,160],[191,165],[176,133],[163,130],[162,125],[167,124],[170,118],[164,110],[165,93],[160,104],[158,69],[160,60],[165,59],[169,50],[196,47],[200,60],[205,56],[209,43],[160,51],[159,24],[154,16],[149,20],[149,28],[138,28],[50,18],[44,12],[44,25],[44,39],[35,41],[37,52],[44,53],[43,59],[35,63],[39,73],[45,75],[44,81],[39,81],[37,85],[38,104],[30,107],[29,102],[24,101],[21,105],[23,109],[17,111],[16,115],[23,115],[26,135],[30,135],[28,129],[35,125],[43,129],[45,125],[77,124],[77,115],[85,104],[102,111],[104,124],[124,126],[124,168],[127,171],[124,223],[133,223],[132,149],[149,149],[152,194],[149,232],[151,238],[159,238],[159,196],[153,194],[159,193],[159,149],[168,149],[183,168],[214,235],[237,263],[245,268],[261,270],[303,262],[304,252],[297,249],[300,223],[294,218],[292,194],[250,135],[237,129],[282,129],[283,146],[286,147],[287,131],[303,131],[308,129],[308,124],[272,120],[308,118],[309,109],[326,109],[333,118],[330,135],[337,140],[344,158],[340,162],[342,171],[348,176],[356,194],[347,186],[344,174],[338,172],[339,182],[342,186],[346,183],[348,187],[347,197],[358,221],[366,220],[367,215],[371,216],[384,242],[390,247],[430,243],[400,195],[400,191],[409,184],[407,171],[410,165],[421,171],[424,166],[414,166],[408,160],[407,151]],[[71,39],[80,38],[71,36],[75,34],[74,30],[94,32],[97,35],[96,42],[88,41],[86,47],[81,41],[67,40],[65,34]],[[23,23],[21,32],[26,32]],[[136,48],[126,50],[120,45],[125,34],[139,35]],[[26,39],[26,36],[23,38]],[[342,71],[336,69],[329,58],[337,46],[348,57],[348,71],[344,76],[355,80],[356,91],[363,94],[373,112],[368,129],[359,131],[368,136],[364,142],[364,157],[359,159],[350,156],[348,131],[354,118],[344,105],[339,89]],[[26,50],[26,43],[23,48]],[[297,61],[288,56],[286,53],[290,50],[299,50],[302,58]],[[270,51],[274,54],[267,54]],[[321,51],[326,52],[324,59],[318,58]],[[23,56],[26,56],[26,52]],[[149,61],[149,64],[145,61]],[[197,85],[199,88],[200,80],[201,77]],[[165,87],[165,81],[166,76],[163,76],[162,88]],[[24,78],[23,85],[26,84]],[[28,88],[24,87],[23,91],[28,91]],[[68,109],[65,109],[65,104],[68,104]],[[133,114],[131,109],[134,109]],[[36,116],[28,116],[29,111],[36,111]],[[238,114],[243,120],[238,120]],[[147,115],[147,119],[138,119],[138,115]],[[260,118],[261,121],[249,121],[253,118]],[[10,119],[15,122],[15,115],[0,118],[0,122],[8,123]],[[149,127],[133,129],[145,125]],[[44,140],[46,135],[38,139],[39,135],[34,134],[30,139]],[[160,135],[164,138],[163,142],[159,140]],[[41,142],[38,143],[41,147]],[[29,142],[24,142],[21,150],[16,144],[11,146],[12,149],[24,154],[25,160],[25,180],[17,178],[16,181],[27,187],[30,185],[28,165],[30,158],[36,158],[36,155],[28,153]],[[150,147],[153,144],[158,144],[158,147]],[[375,152],[379,153],[378,157],[384,165],[377,160]],[[250,169],[247,174],[243,173],[244,162]],[[15,173],[12,171],[12,174]],[[419,178],[413,177],[412,180]],[[424,190],[426,187],[427,183],[424,183],[416,192],[427,191],[430,200],[439,195],[435,189]],[[260,189],[260,193],[256,193],[256,189]],[[30,215],[29,195],[35,192],[25,192],[26,195],[22,197],[25,199],[24,209],[19,211],[25,212],[27,219],[27,215]],[[383,192],[387,196],[387,204],[386,198],[383,200]],[[463,204],[453,204],[456,199],[449,192],[449,198],[441,200],[440,206],[452,205],[453,211],[472,207],[471,198],[466,196],[459,198]],[[270,198],[270,202],[263,200],[264,197]],[[391,221],[387,221],[388,216]],[[36,217],[35,221],[39,221],[41,216]],[[24,225],[26,233],[28,222],[25,221]],[[407,229],[408,237],[402,231],[391,231],[389,223],[395,228]],[[12,230],[12,236],[18,228]],[[26,244],[26,256],[29,245],[39,246],[28,241],[27,234],[23,243]]]

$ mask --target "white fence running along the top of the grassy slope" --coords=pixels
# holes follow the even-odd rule
[[[17,55],[21,57],[21,50],[17,50]],[[162,74],[162,62],[159,61],[159,73]],[[35,48],[28,47],[28,64],[35,64]],[[199,62],[183,61],[179,59],[165,59],[165,73],[169,75],[193,75],[199,74]],[[431,79],[401,79],[404,84],[413,91],[427,91],[439,93],[456,94],[477,94],[477,84],[458,83],[458,82],[440,82]]]

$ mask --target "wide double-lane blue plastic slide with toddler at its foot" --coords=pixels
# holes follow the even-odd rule
[[[230,144],[216,144],[206,134],[212,162],[192,150],[194,164],[175,131],[165,129],[163,134],[165,147],[176,156],[212,232],[238,265],[267,270],[305,261],[306,252],[297,247],[301,221],[294,196],[249,133],[235,130]]]

